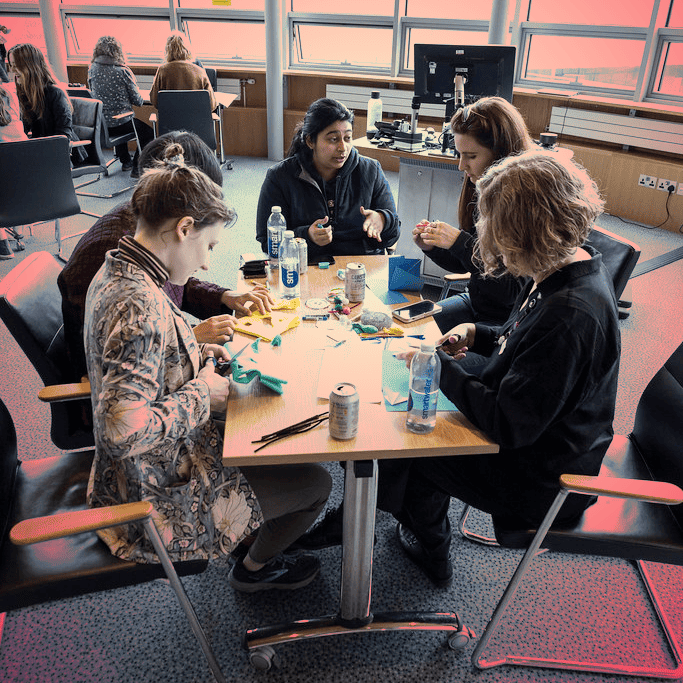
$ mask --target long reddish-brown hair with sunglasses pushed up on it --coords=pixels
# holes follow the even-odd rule
[[[453,114],[451,130],[471,135],[493,152],[494,161],[533,148],[526,123],[519,110],[502,97],[482,97]],[[462,186],[458,218],[460,228],[471,232],[476,206],[475,187],[469,179]]]

